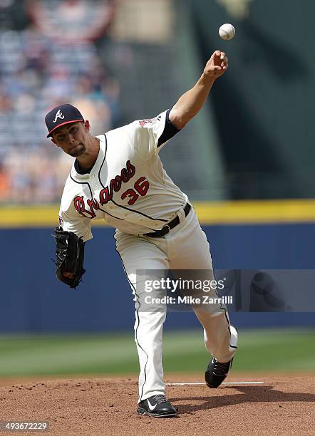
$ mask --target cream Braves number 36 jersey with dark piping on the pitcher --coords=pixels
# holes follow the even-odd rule
[[[92,219],[128,234],[161,229],[175,217],[187,196],[162,167],[159,139],[167,111],[97,136],[100,151],[91,172],[73,163],[59,212],[63,230],[84,241],[92,238]]]

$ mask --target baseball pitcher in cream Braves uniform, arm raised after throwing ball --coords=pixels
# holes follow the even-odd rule
[[[209,271],[213,278],[205,233],[189,199],[163,169],[159,152],[200,111],[227,67],[225,53],[215,51],[197,83],[171,109],[96,137],[89,121],[70,104],[58,105],[45,118],[47,137],[75,158],[55,231],[56,275],[68,286],[78,286],[85,273],[84,245],[92,238],[92,220],[104,219],[115,227],[116,249],[135,300],[140,415],[172,417],[177,410],[165,398],[163,383],[166,308],[141,310],[143,289],[137,286],[136,271],[195,269]],[[196,306],[194,311],[211,355],[205,380],[217,388],[231,368],[237,331],[222,304],[209,310]]]

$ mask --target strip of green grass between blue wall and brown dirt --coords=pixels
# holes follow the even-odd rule
[[[314,329],[239,331],[235,371],[315,370]],[[203,372],[209,356],[201,331],[165,333],[165,372]],[[138,373],[131,334],[0,335],[0,377]]]

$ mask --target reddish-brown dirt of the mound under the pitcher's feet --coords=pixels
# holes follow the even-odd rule
[[[200,375],[165,376],[202,382]],[[135,414],[136,378],[1,380],[0,421],[48,421],[48,435],[315,435],[315,375],[231,374],[229,382],[261,385],[167,386],[176,418]],[[1,435],[13,434],[2,432]],[[34,435],[34,432],[19,432]]]

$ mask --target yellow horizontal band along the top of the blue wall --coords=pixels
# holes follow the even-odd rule
[[[315,199],[194,202],[203,225],[315,222]],[[54,227],[58,206],[2,206],[0,228]],[[93,222],[105,226],[102,220]]]

